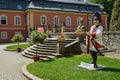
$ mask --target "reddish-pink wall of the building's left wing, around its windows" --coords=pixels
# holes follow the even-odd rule
[[[0,42],[11,42],[11,38],[15,35],[16,32],[20,32],[26,38],[27,36],[27,27],[26,27],[26,14],[23,11],[0,11],[0,16],[7,16],[7,24],[0,24]],[[14,25],[14,16],[21,17],[21,25]],[[7,32],[7,39],[1,39],[1,32]]]

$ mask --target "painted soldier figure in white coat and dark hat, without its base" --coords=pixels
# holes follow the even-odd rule
[[[99,49],[103,48],[103,42],[102,42],[102,33],[103,33],[103,27],[100,24],[101,22],[101,15],[96,12],[93,15],[93,25],[90,28],[90,54],[92,57],[92,64],[94,65],[94,68],[98,68],[97,66],[97,53],[100,53]],[[100,55],[103,56],[102,53]]]

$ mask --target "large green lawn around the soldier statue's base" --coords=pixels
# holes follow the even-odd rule
[[[27,66],[33,75],[44,80],[119,80],[120,60],[107,57],[98,57],[98,64],[107,68],[98,71],[89,71],[78,68],[80,62],[90,62],[89,55],[58,58],[54,61],[34,62]]]

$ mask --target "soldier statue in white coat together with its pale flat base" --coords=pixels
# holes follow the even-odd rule
[[[93,17],[93,25],[90,28],[90,32],[86,32],[86,35],[90,37],[90,54],[92,57],[92,62],[84,63],[81,62],[80,67],[87,68],[90,70],[97,70],[97,69],[103,69],[105,66],[97,65],[97,54],[104,56],[99,49],[102,49],[103,42],[102,42],[102,33],[103,33],[103,27],[101,26],[101,15],[96,12]]]

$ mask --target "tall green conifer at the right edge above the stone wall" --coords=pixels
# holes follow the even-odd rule
[[[110,31],[120,31],[120,0],[114,1],[114,8],[112,10]]]

